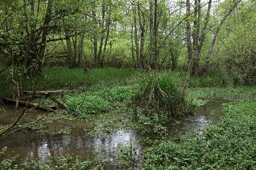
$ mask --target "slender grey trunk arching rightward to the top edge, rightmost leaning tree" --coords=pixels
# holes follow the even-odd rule
[[[217,36],[218,36],[218,33],[219,33],[219,30],[222,26],[222,24],[224,23],[224,21],[226,20],[226,18],[229,16],[229,14],[232,12],[233,9],[236,8],[236,6],[241,2],[241,0],[237,0],[235,5],[233,5],[232,7],[229,8],[229,10],[227,11],[226,15],[220,20],[219,22],[219,25],[218,27],[216,28],[216,31],[214,33],[214,37],[213,37],[213,40],[212,42],[210,43],[210,47],[209,47],[209,51],[207,53],[207,57],[206,57],[206,62],[205,62],[205,66],[204,66],[204,75],[206,74],[206,72],[208,71],[208,68],[209,68],[209,58],[210,58],[210,55],[212,54],[212,51],[213,51],[213,47],[214,47],[214,44],[215,44],[215,41],[217,39]]]

